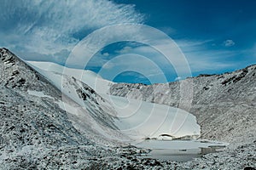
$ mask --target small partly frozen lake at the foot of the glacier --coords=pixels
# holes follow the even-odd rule
[[[224,149],[227,144],[202,140],[144,140],[137,147],[152,151],[142,157],[165,161],[190,161],[196,157]]]

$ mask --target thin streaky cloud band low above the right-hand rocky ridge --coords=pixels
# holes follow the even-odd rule
[[[170,60],[166,59],[165,55],[161,54],[159,51],[147,45],[131,45],[124,46],[119,50],[115,50],[114,56],[125,55],[125,58],[122,59],[113,59],[113,55],[110,54],[108,59],[104,56],[96,55],[95,62],[90,63],[94,66],[101,67],[109,60],[112,60],[112,66],[108,66],[106,72],[117,71],[117,65],[119,65],[123,71],[127,68],[133,67],[133,69],[138,70],[138,68],[147,71],[145,74],[147,77],[151,77],[154,80],[165,82],[167,81],[177,81],[177,77],[191,77],[192,75],[200,73],[218,73],[226,71],[227,69],[233,69],[238,67],[236,58],[238,55],[243,56],[243,51],[230,50],[224,48],[221,43],[213,39],[208,40],[191,40],[191,39],[179,39],[176,41],[177,47],[182,49],[182,52],[185,56],[185,59],[181,57],[180,54],[172,51],[172,58]],[[161,49],[168,49],[170,46],[166,44],[165,39],[155,38],[155,46]],[[212,44],[217,44],[212,46]],[[103,50],[104,51],[104,50]],[[132,59],[132,54],[137,54],[144,56],[154,65],[158,65],[158,68],[155,69],[154,65],[145,62],[143,59]],[[127,58],[127,59],[126,59]],[[188,62],[189,69],[192,72],[192,75],[188,74],[186,62]],[[239,62],[241,63],[241,62]],[[177,74],[177,71],[179,74]],[[106,73],[105,72],[105,73]],[[166,79],[160,79],[159,75],[165,75]],[[108,76],[106,76],[108,77]],[[155,81],[156,82],[156,81]]]

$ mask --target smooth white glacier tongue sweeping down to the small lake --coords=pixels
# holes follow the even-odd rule
[[[108,95],[108,89],[113,82],[104,80],[91,71],[70,69],[47,62],[29,61],[28,63],[53,82],[55,87],[61,89],[63,94],[84,107],[90,107],[90,104],[89,106],[84,105],[87,99],[84,100],[78,94],[78,89],[84,86],[83,82],[88,84],[97,94],[101,94],[102,99],[100,100],[104,102],[99,105],[102,105],[103,110],[106,111],[103,114],[112,112],[111,116],[105,118],[112,119],[113,127],[117,127],[122,133],[129,136],[131,141],[146,138],[168,137],[168,139],[173,139],[185,136],[198,138],[200,136],[201,129],[196,123],[195,116],[187,111],[167,105]],[[98,115],[101,114],[97,113],[96,119]],[[111,124],[110,122],[106,125]]]

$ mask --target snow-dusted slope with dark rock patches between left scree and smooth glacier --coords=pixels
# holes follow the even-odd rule
[[[88,133],[89,126],[93,132],[99,133],[107,140],[126,139],[119,133],[119,128],[113,124],[116,113],[112,105],[102,99],[94,90],[74,77],[61,75],[55,71],[44,71],[39,68],[36,70],[61,91],[62,99],[55,103],[61,109],[76,117],[73,119],[73,116],[69,116],[74,127],[79,128],[83,133]],[[36,94],[31,91],[28,91],[28,93]],[[42,95],[39,95],[39,97],[42,97]],[[97,138],[91,137],[91,135],[88,138],[102,144],[102,141],[98,141]]]

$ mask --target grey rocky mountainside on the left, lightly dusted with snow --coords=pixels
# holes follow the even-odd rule
[[[0,79],[0,169],[90,168],[91,158],[113,155],[95,144],[93,139],[105,139],[90,126],[86,133],[73,126],[79,118],[61,109],[61,91],[5,48],[0,49]],[[84,87],[78,93],[98,98]],[[95,100],[91,114],[104,114]]]

